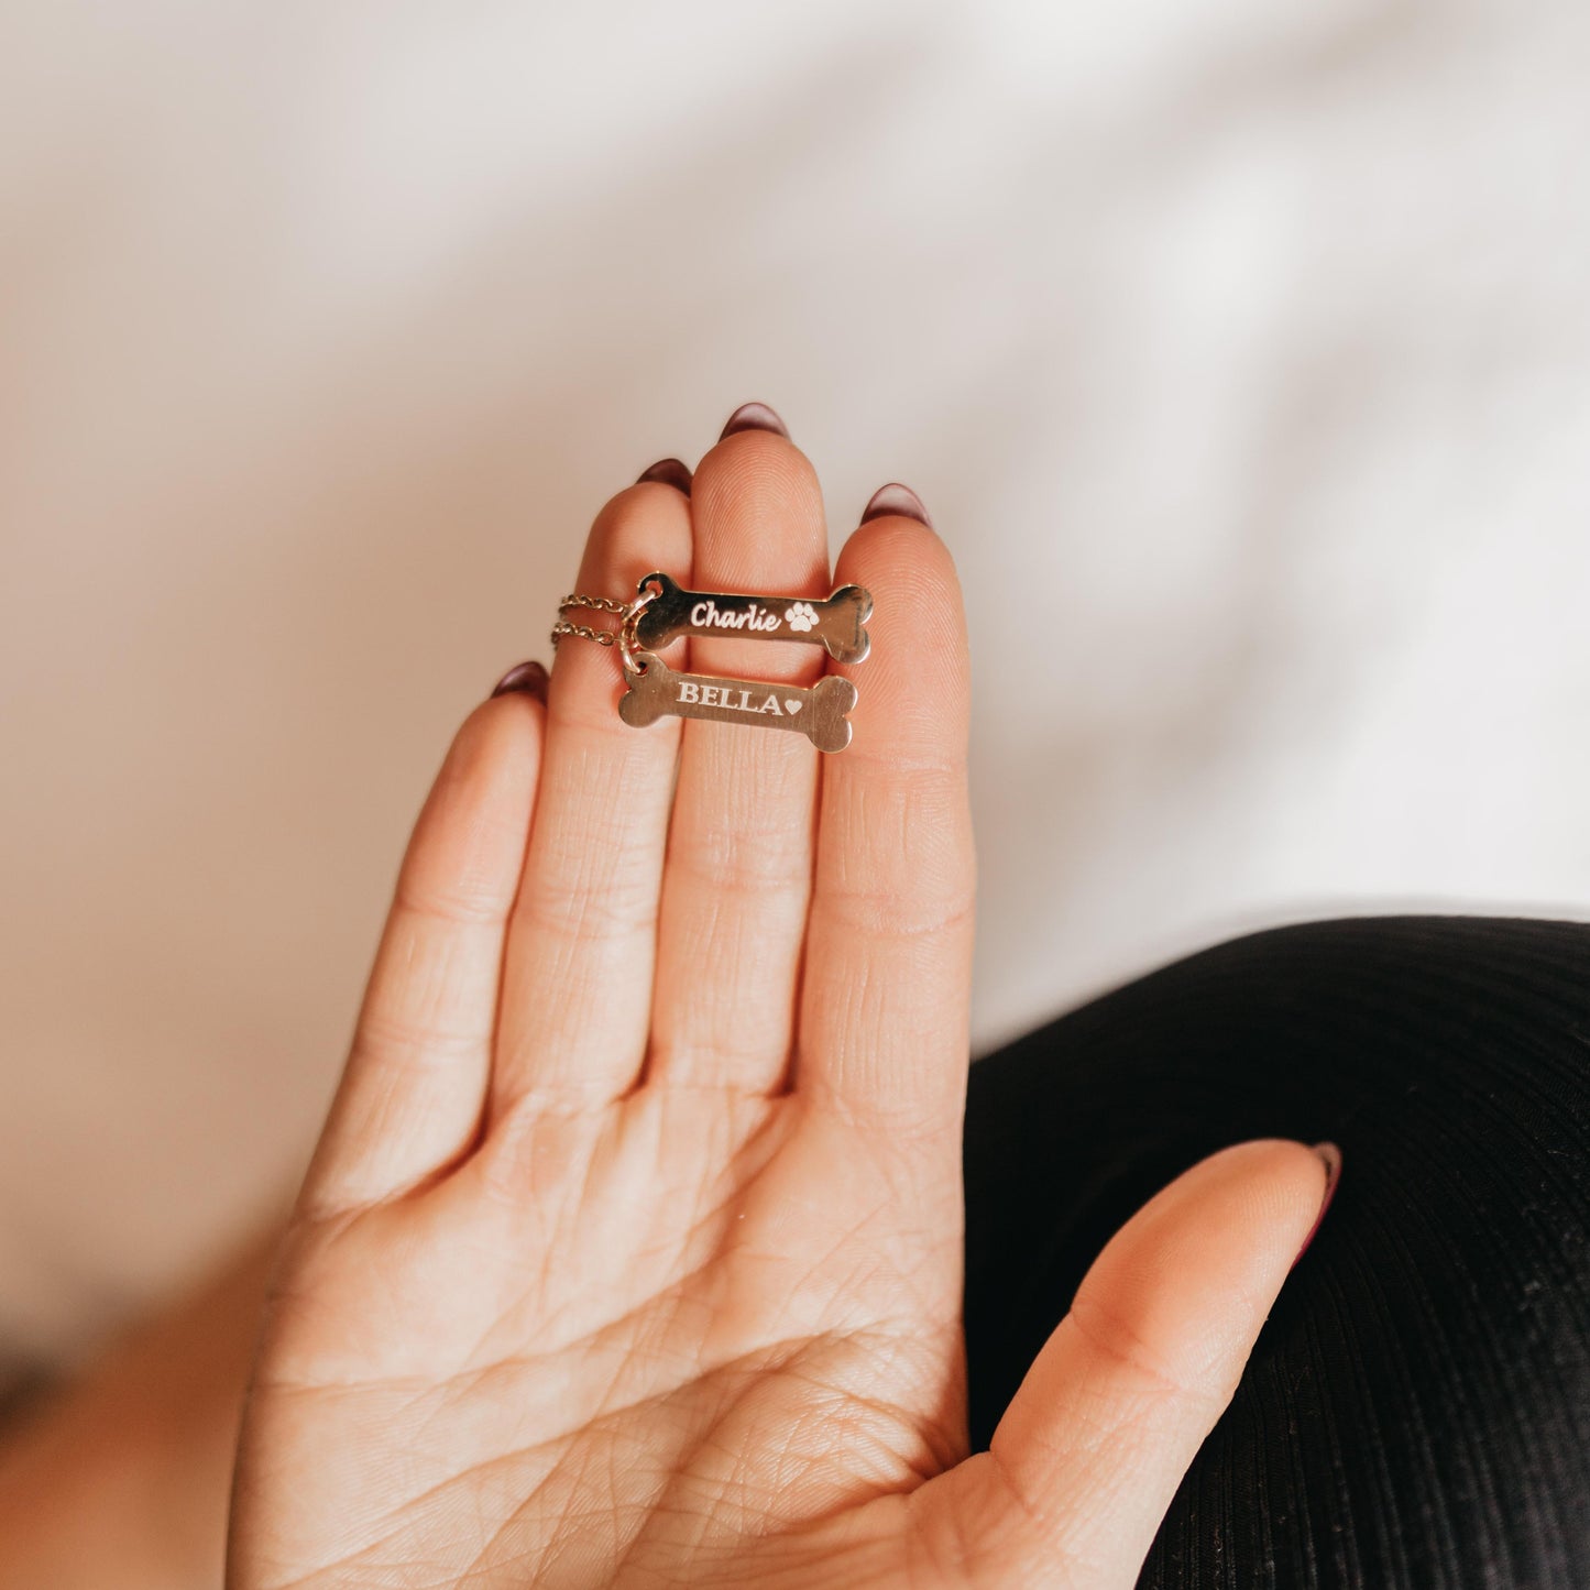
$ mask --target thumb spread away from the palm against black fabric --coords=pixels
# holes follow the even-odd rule
[[[981,1514],[987,1552],[1019,1542],[1003,1571],[1019,1577],[1026,1553],[1027,1574],[1064,1563],[1067,1584],[1135,1582],[1334,1189],[1328,1154],[1340,1162],[1332,1145],[1226,1148],[1105,1247],[991,1452],[946,1476],[954,1504]]]

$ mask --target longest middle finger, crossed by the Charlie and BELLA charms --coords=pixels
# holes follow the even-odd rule
[[[822,493],[782,426],[730,434],[714,447],[696,469],[693,502],[695,588],[828,595]],[[692,669],[728,677],[808,684],[822,663],[819,646],[690,642]],[[817,760],[800,735],[685,725],[650,1080],[754,1092],[782,1086],[811,898]]]

